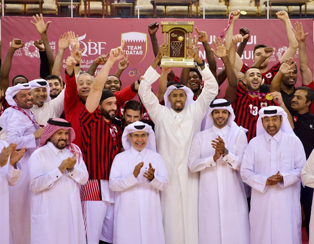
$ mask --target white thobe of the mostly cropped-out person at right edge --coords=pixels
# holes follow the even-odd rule
[[[313,150],[314,151],[314,150]],[[314,153],[311,152],[309,158],[307,159],[301,173],[301,179],[304,185],[314,188]],[[314,198],[313,198],[314,201]],[[314,203],[312,202],[311,213],[314,213]],[[314,216],[314,215],[312,215]],[[310,239],[309,243],[314,243],[314,217],[310,220]]]

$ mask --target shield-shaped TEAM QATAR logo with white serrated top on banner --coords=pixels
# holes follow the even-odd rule
[[[147,34],[142,32],[126,32],[121,34],[121,43],[125,41],[123,50],[129,54],[128,61],[137,65],[143,61],[147,52]]]

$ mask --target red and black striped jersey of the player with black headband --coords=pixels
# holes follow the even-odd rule
[[[79,115],[83,159],[89,179],[108,180],[114,157],[122,145],[122,133],[115,120],[106,122],[97,108],[93,113],[84,106]]]

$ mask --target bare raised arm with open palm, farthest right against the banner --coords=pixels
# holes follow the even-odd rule
[[[309,33],[303,31],[302,23],[295,23],[295,29],[292,28],[295,38],[299,43],[299,66],[302,77],[302,84],[309,85],[313,81],[312,72],[309,69],[309,59],[307,57],[305,39]]]

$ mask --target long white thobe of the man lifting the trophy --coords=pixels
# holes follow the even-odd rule
[[[155,123],[157,152],[165,160],[169,175],[167,189],[160,193],[162,221],[166,244],[198,243],[198,182],[199,173],[187,166],[194,135],[218,94],[218,84],[205,65],[202,71],[204,88],[198,99],[177,113],[159,104],[151,84],[160,75],[150,66],[138,94]]]

